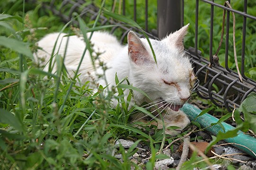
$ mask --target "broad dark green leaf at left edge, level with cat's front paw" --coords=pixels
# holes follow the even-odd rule
[[[0,108],[0,122],[13,126],[18,131],[24,131],[24,126],[18,118],[2,108]]]

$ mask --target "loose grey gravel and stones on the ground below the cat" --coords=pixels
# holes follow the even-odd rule
[[[206,137],[209,136],[206,133],[199,133],[203,139],[207,140]],[[196,134],[196,135],[199,135]],[[210,136],[209,136],[210,137]],[[125,148],[125,152],[127,153],[128,148],[132,144],[134,144],[133,141],[130,140],[124,140],[119,139],[115,145],[116,148],[119,148],[119,143]],[[223,143],[223,142],[220,142]],[[179,164],[179,161],[181,159],[181,153],[178,152],[179,145],[174,143],[174,152],[172,152],[170,149],[164,150],[162,153],[169,157],[169,159],[164,160],[158,160],[155,162],[154,170],[168,170],[170,168],[175,168]],[[239,149],[231,146],[231,145],[224,145],[224,146],[217,146],[214,147],[214,152],[216,152],[219,155],[222,154],[233,154],[233,153],[243,153]],[[129,157],[129,160],[134,162],[135,164],[143,167],[145,169],[146,163],[149,161],[151,156],[150,148],[145,145],[144,143],[138,143],[137,144],[137,152],[135,152],[132,156]],[[123,162],[122,160],[122,154],[119,154],[119,152],[116,152],[114,155],[115,158],[119,159],[119,161]],[[255,158],[252,158],[249,155],[232,155],[229,156],[229,158],[237,159],[240,161],[246,161],[246,163],[242,163],[240,161],[236,160],[223,160],[220,164],[216,164],[215,170],[227,170],[227,167],[232,162],[232,165],[235,167],[236,170],[256,170],[256,160]],[[240,167],[240,168],[239,168]],[[134,167],[131,167],[132,169],[135,169]],[[203,169],[201,169],[203,170]]]

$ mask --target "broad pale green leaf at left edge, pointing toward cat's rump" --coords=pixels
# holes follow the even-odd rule
[[[0,36],[0,45],[16,51],[20,54],[28,56],[30,59],[34,60],[33,54],[31,53],[27,43],[18,41],[13,38],[7,38],[5,36]]]

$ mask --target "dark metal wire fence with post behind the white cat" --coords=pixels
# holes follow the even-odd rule
[[[230,2],[230,0],[229,0]],[[114,3],[114,1],[113,1]],[[133,19],[137,21],[137,0],[133,0]],[[247,14],[247,0],[244,0],[244,10],[239,11],[231,9],[227,6],[215,3],[213,0],[196,0],[195,9],[195,46],[190,47],[187,50],[187,54],[191,57],[191,62],[194,66],[194,72],[200,79],[200,85],[197,88],[197,94],[201,98],[210,99],[215,105],[219,107],[226,107],[228,111],[232,111],[234,107],[239,107],[241,102],[250,94],[252,91],[256,92],[256,82],[249,79],[245,73],[245,49],[246,49],[246,25],[247,18],[256,21],[256,17]],[[199,21],[199,3],[210,4],[210,61],[201,56],[201,52],[198,50],[198,21]],[[86,5],[85,5],[86,4]],[[51,3],[43,3],[43,8],[50,9],[55,15],[59,16],[64,22],[68,22],[72,18],[73,12],[77,12],[85,20],[93,21],[98,15],[98,8],[92,3],[88,4],[86,0],[64,0],[59,5],[59,1],[52,0]],[[148,0],[145,0],[145,27],[146,34],[151,38],[162,38],[166,33],[177,30],[183,25],[183,0],[159,0],[158,1],[158,29],[148,30]],[[225,35],[225,67],[218,64],[214,58],[213,49],[213,24],[214,24],[214,9],[226,9],[226,35]],[[231,70],[228,65],[229,60],[229,21],[230,12],[234,12],[237,15],[243,17],[243,33],[242,33],[242,54],[241,54],[241,65],[240,72],[242,77],[239,78],[237,72]],[[126,0],[122,0],[122,14],[126,15]],[[164,19],[163,19],[164,18]],[[175,23],[175,24],[174,24]],[[73,24],[78,25],[76,21]],[[128,34],[128,31],[133,29],[139,30],[134,27],[127,27],[117,20],[108,18],[101,15],[100,25],[113,24],[117,25],[113,27],[110,32],[113,33],[117,29],[122,29],[122,35],[120,36],[123,42]],[[142,36],[138,34],[139,36]],[[218,88],[216,88],[218,87]]]

